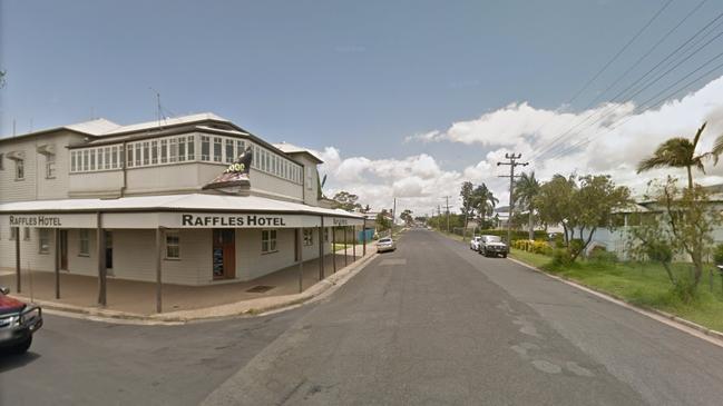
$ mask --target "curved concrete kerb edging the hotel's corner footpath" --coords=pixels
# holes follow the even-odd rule
[[[48,300],[32,300],[32,303],[42,307],[42,311],[50,315],[127,325],[182,325],[194,321],[257,317],[291,310],[304,304],[314,303],[330,296],[339,287],[344,285],[354,275],[362,270],[373,258],[377,257],[377,250],[371,246],[371,249],[368,249],[367,256],[361,257],[356,261],[338,270],[335,274],[317,281],[301,294],[270,296],[193,310],[139,315],[97,307],[58,304]],[[17,297],[30,301],[29,297],[21,295],[18,295]]]

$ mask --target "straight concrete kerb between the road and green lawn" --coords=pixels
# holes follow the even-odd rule
[[[543,274],[543,275],[547,276],[548,278],[553,278],[553,279],[558,280],[558,281],[560,281],[563,284],[566,284],[568,286],[571,286],[571,287],[575,287],[575,288],[577,288],[579,290],[588,293],[588,294],[590,294],[590,295],[593,295],[595,297],[598,297],[598,298],[604,299],[606,301],[616,304],[618,306],[622,306],[622,307],[624,307],[626,309],[633,310],[633,311],[635,311],[637,314],[641,314],[641,315],[646,316],[648,318],[652,318],[654,320],[661,321],[661,323],[663,323],[663,324],[665,324],[667,326],[671,326],[673,328],[676,328],[676,329],[678,329],[678,330],[681,330],[683,333],[686,333],[686,334],[690,334],[690,335],[692,335],[694,337],[704,339],[704,340],[706,340],[706,341],[709,341],[711,344],[714,344],[714,345],[716,345],[719,347],[723,347],[723,333],[721,333],[721,331],[710,329],[707,327],[695,324],[695,323],[693,323],[691,320],[686,320],[684,318],[671,315],[668,313],[665,313],[665,311],[662,311],[662,310],[658,310],[658,309],[633,305],[633,304],[626,301],[624,298],[617,297],[615,295],[610,295],[608,293],[597,290],[597,289],[592,288],[589,286],[580,285],[580,284],[578,284],[576,281],[559,277],[557,275],[548,274],[548,273],[546,273],[546,271],[544,271],[544,270],[541,270],[539,268],[536,268],[536,267],[534,267],[531,265],[525,264],[525,263],[522,263],[522,261],[520,261],[518,259],[515,259],[515,258],[507,258],[507,259],[509,259],[509,260],[511,260],[511,261],[514,261],[514,263],[516,263],[518,265],[521,265],[527,269],[530,269],[530,270],[534,270],[536,273]]]

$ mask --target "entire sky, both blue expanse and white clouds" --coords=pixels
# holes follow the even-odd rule
[[[609,174],[641,192],[664,172],[635,166],[662,140],[706,120],[701,148],[723,133],[721,12],[720,0],[0,0],[0,135],[154,120],[158,92],[166,116],[209,111],[313,149],[325,195],[374,209],[395,197],[424,215],[444,196],[455,208],[465,180],[505,205],[506,152],[541,180]],[[696,175],[721,182],[723,165]]]

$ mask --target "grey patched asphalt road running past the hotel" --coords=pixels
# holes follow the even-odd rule
[[[720,405],[723,348],[414,230],[325,300],[177,327],[48,317],[0,404]]]

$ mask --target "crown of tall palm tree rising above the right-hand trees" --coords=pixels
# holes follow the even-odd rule
[[[705,125],[704,122],[697,129],[693,141],[685,137],[675,137],[661,143],[652,157],[643,159],[637,165],[637,172],[664,167],[685,168],[687,170],[687,187],[688,189],[693,189],[693,167],[705,174],[703,161],[713,158],[715,164],[717,164],[717,157],[723,152],[723,136],[721,136],[715,140],[715,147],[711,152],[695,155],[695,148],[701,139],[701,133],[705,129]]]

